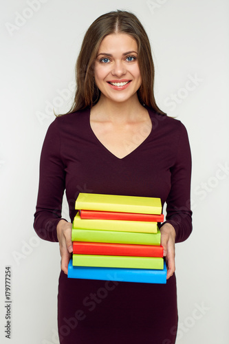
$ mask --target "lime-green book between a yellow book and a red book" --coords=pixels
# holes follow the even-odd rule
[[[131,233],[113,230],[72,228],[72,241],[109,242],[117,244],[160,245],[161,233]]]

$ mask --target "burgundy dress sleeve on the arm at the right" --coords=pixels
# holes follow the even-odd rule
[[[166,200],[166,222],[175,228],[175,242],[186,240],[192,232],[191,154],[186,128],[181,122],[179,123],[180,136],[177,140],[177,155],[175,164],[171,167],[171,191]]]

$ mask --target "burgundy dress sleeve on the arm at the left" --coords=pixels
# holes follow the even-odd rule
[[[39,193],[34,214],[34,229],[48,241],[58,241],[56,226],[61,219],[65,166],[61,159],[61,138],[57,121],[47,130],[41,151]]]

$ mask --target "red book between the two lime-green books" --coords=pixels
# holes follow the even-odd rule
[[[113,255],[132,257],[163,257],[163,247],[137,244],[109,244],[101,242],[74,241],[75,255]]]

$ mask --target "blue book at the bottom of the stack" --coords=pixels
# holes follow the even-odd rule
[[[163,270],[132,268],[97,268],[91,266],[73,266],[72,258],[68,265],[68,278],[100,279],[102,281],[166,283],[167,268],[164,261]]]

